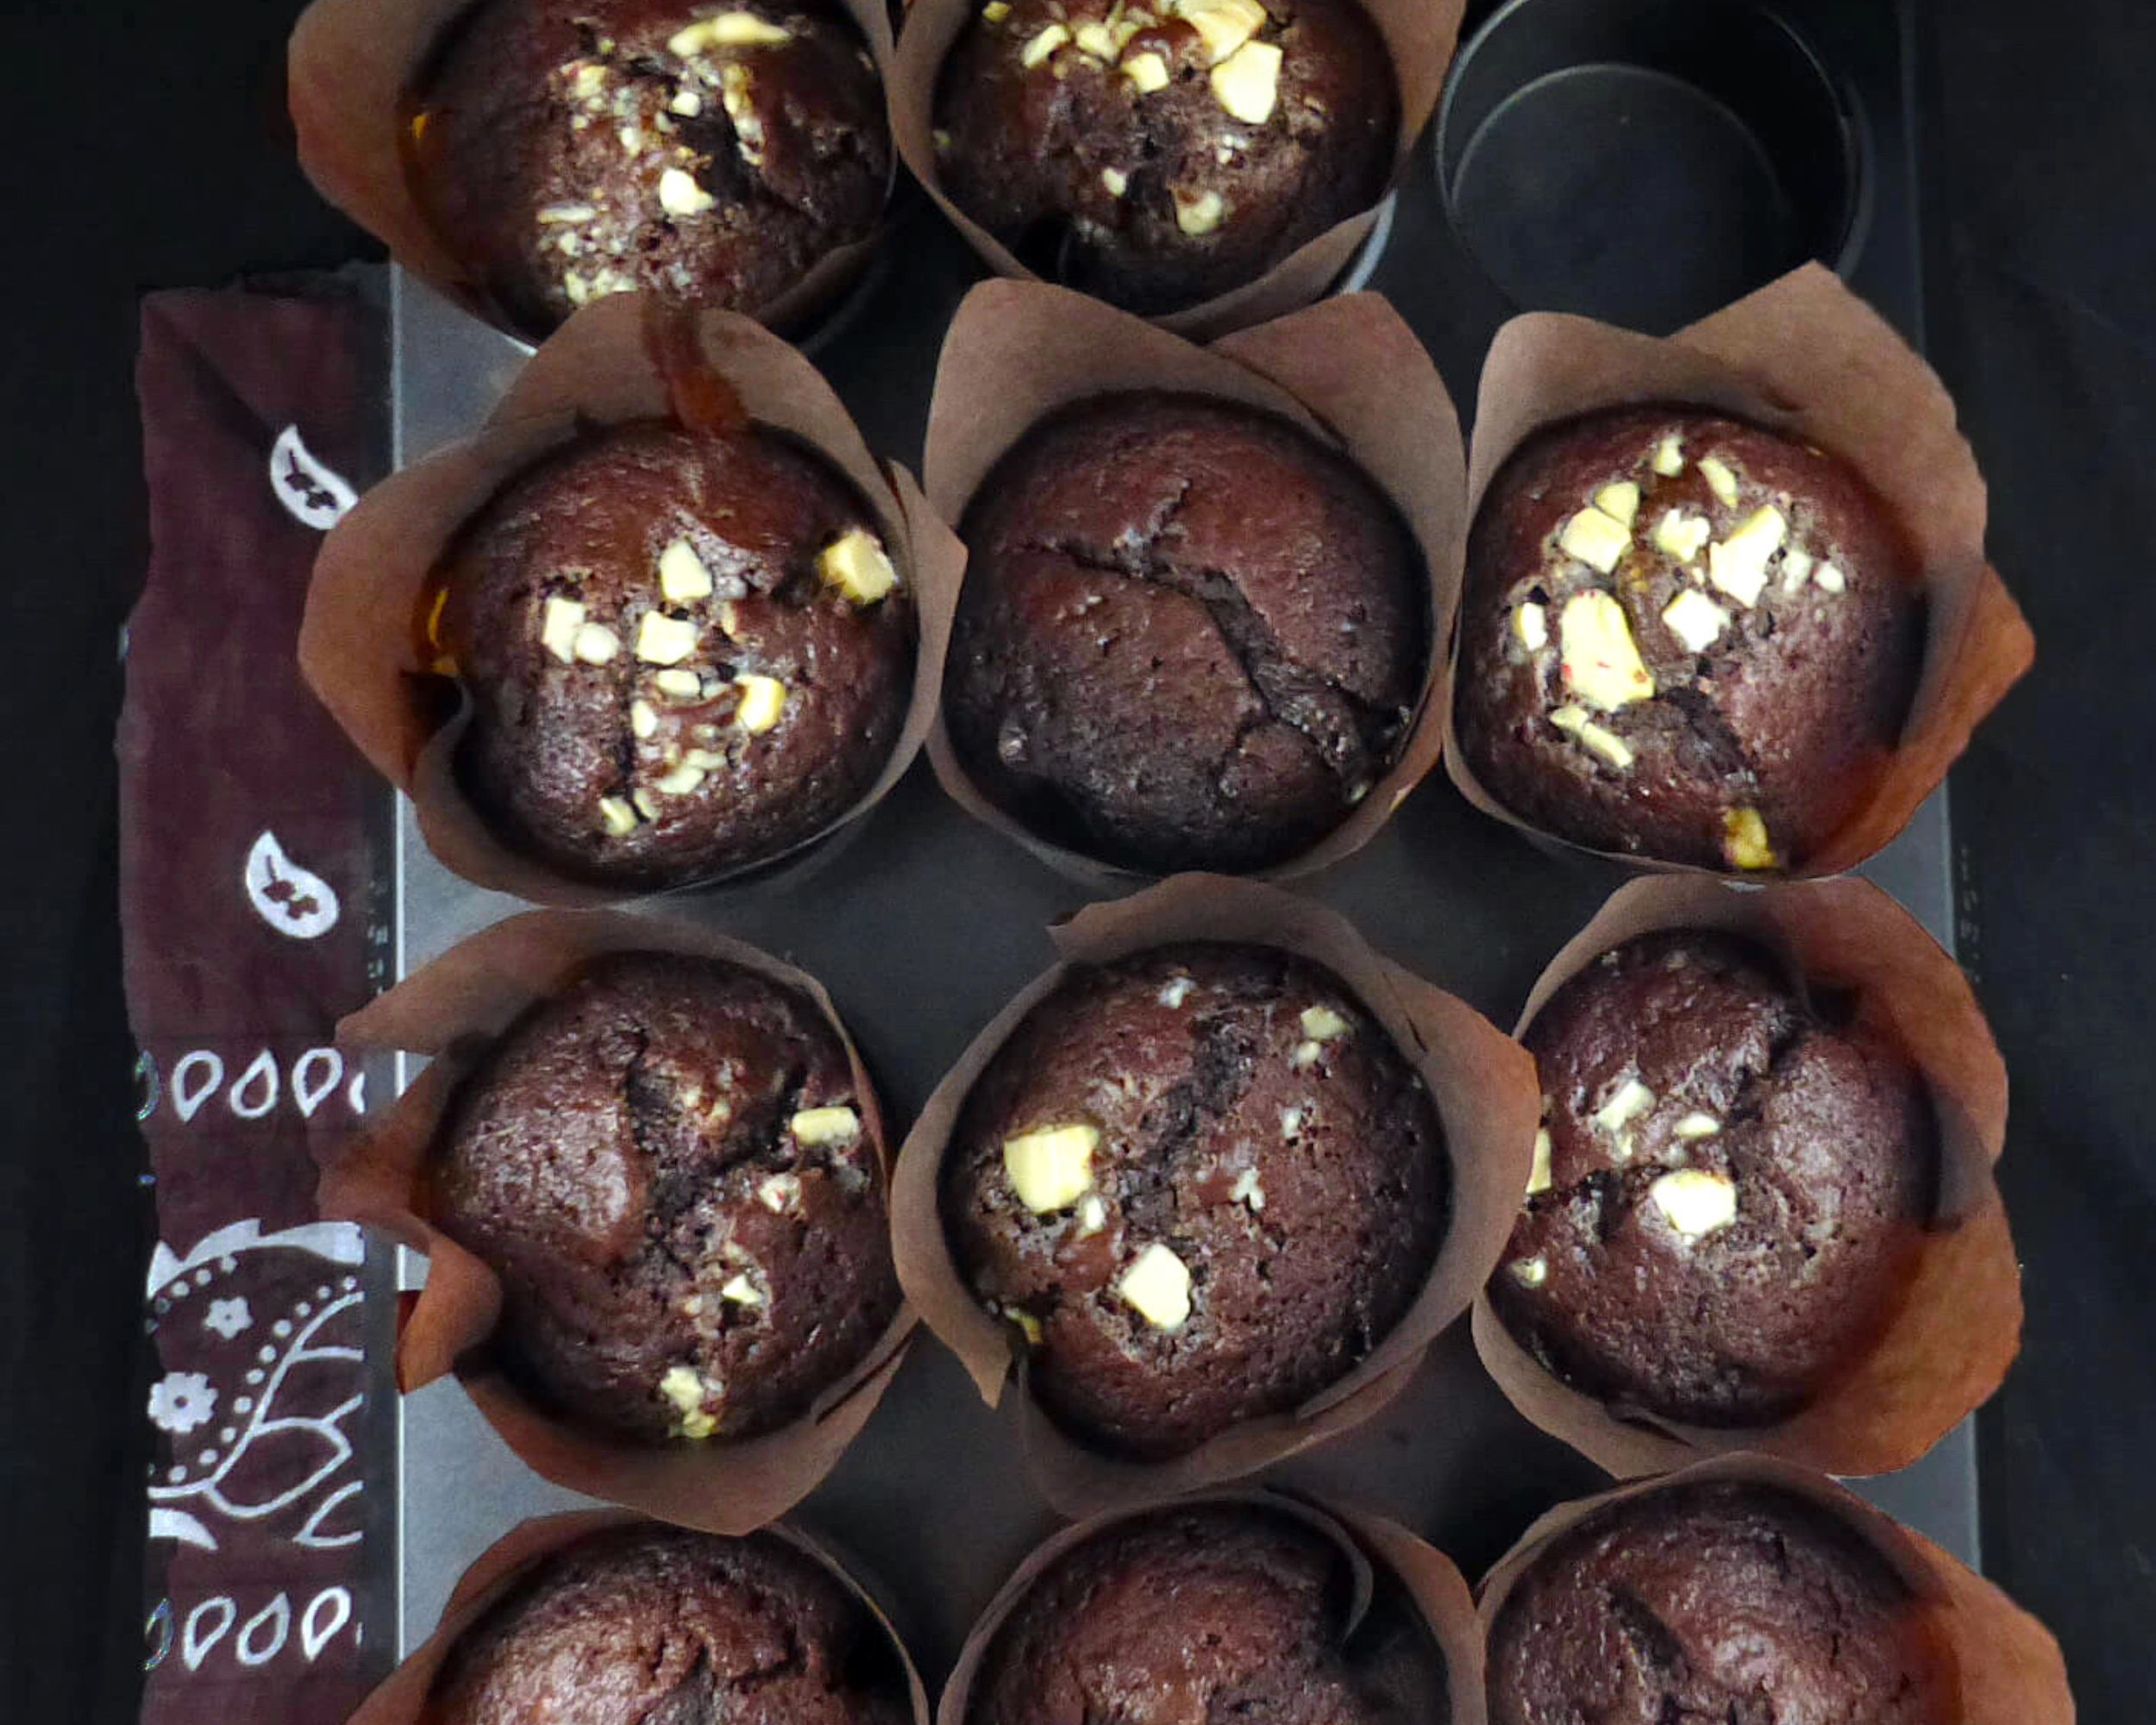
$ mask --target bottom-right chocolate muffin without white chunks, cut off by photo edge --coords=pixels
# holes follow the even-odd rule
[[[1490,1725],[1947,1725],[1953,1656],[1858,1533],[1779,1486],[1593,1512],[1490,1632]]]

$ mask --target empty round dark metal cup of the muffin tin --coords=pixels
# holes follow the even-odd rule
[[[1753,0],[1509,0],[1453,63],[1436,151],[1520,308],[1667,334],[1863,246],[1863,112]]]

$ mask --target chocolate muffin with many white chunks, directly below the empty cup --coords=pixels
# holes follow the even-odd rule
[[[1468,539],[1460,744],[1595,850],[1792,869],[1863,806],[1923,656],[1917,558],[1841,459],[1697,408],[1522,444]]]

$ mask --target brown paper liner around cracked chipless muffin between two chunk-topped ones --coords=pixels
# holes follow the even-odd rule
[[[1378,293],[1345,293],[1197,347],[1046,282],[981,282],[951,319],[923,474],[929,505],[959,522],[996,461],[1039,420],[1115,390],[1179,390],[1261,408],[1341,451],[1408,522],[1429,574],[1429,671],[1399,759],[1332,832],[1261,878],[1326,869],[1367,845],[1445,748],[1451,668],[1445,640],[1466,556],[1460,418],[1429,354]],[[957,586],[951,591],[957,608]],[[938,619],[949,640],[951,617]],[[1149,875],[1050,843],[987,800],[938,714],[927,737],[938,783],[968,815],[1095,888]]]

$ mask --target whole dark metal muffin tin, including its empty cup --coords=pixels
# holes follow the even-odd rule
[[[1634,321],[1669,326],[1701,310],[1701,295],[1729,298],[1774,274],[1792,261],[1789,248],[1843,267],[1858,293],[1921,341],[1897,13],[1830,0],[1785,0],[1781,22],[1761,13],[1766,22],[1757,28],[1768,34],[1759,41],[1809,43],[1794,50],[1772,88],[1789,88],[1783,73],[1798,88],[1811,78],[1811,97],[1824,104],[1820,129],[1798,127],[1802,136],[1789,144],[1794,155],[1777,155],[1781,147],[1764,136],[1766,121],[1744,119],[1729,101],[1705,95],[1725,73],[1744,84],[1761,65],[1755,47],[1744,47],[1753,26],[1729,22],[1738,13],[1751,17],[1753,9],[1708,6],[1714,19],[1692,30],[1682,15],[1697,13],[1699,4],[1511,0],[1490,34],[1462,50],[1445,121],[1410,160],[1388,239],[1382,250],[1371,246],[1369,282],[1412,323],[1455,401],[1475,399],[1490,336],[1520,304],[1630,313]],[[1565,37],[1552,19],[1567,11],[1574,26],[1591,17],[1593,32]],[[1632,26],[1621,39],[1595,34],[1619,15]],[[1511,47],[1514,32],[1533,37],[1542,56]],[[1680,34],[1703,43],[1705,69],[1667,58],[1667,43]],[[1626,60],[1641,60],[1647,71],[1608,69]],[[1641,295],[1636,280],[1611,280],[1600,263],[1593,276],[1552,282],[1548,270],[1576,272],[1595,252],[1552,250],[1548,235],[1535,231],[1531,201],[1518,192],[1490,194],[1490,185],[1503,183],[1496,168],[1507,153],[1554,164],[1561,151],[1552,149],[1552,136],[1576,140],[1574,127],[1589,121],[1639,127],[1641,119],[1623,119],[1626,101],[1608,97],[1649,86],[1654,123],[1675,116],[1664,147],[1682,144],[1692,123],[1686,114],[1705,116],[1708,108],[1716,110],[1714,125],[1761,132],[1759,160],[1781,162],[1774,172],[1789,181],[1783,203],[1766,198],[1774,205],[1768,211],[1774,222],[1761,222],[1757,250],[1740,250],[1742,267],[1729,267],[1727,252],[1712,261],[1692,250],[1673,252],[1667,295],[1662,289]],[[1766,99],[1770,110],[1789,112],[1787,97]],[[1574,101],[1585,108],[1565,106]],[[1557,106],[1537,114],[1544,104]],[[1800,168],[1822,166],[1820,149],[1826,151],[1820,190],[1798,194],[1794,181]],[[1680,155],[1682,149],[1660,157],[1662,168]],[[1742,175],[1729,185],[1701,185],[1649,170],[1651,155],[1641,162],[1643,172],[1613,181],[1623,196],[1697,198],[1723,190],[1746,207],[1753,196],[1766,196],[1742,190]],[[1453,194],[1451,216],[1440,164]],[[1755,170],[1768,172],[1753,162],[1746,175]],[[1485,175],[1492,175],[1488,185]],[[1576,185],[1557,190],[1565,198],[1583,196]],[[1602,194],[1589,190],[1585,196],[1593,203]],[[1785,209],[1792,220],[1777,226]],[[1606,205],[1602,213],[1626,237],[1649,231],[1654,211],[1641,203],[1636,224]],[[942,330],[979,267],[925,201],[901,201],[897,222],[890,267],[865,302],[815,343],[815,358],[869,444],[918,470]],[[1591,235],[1574,231],[1572,237],[1585,244]],[[1572,293],[1578,298],[1565,298]],[[399,274],[390,298],[395,457],[405,464],[466,433],[515,375],[524,349],[416,278]],[[446,873],[412,830],[407,804],[399,804],[395,819],[397,869],[379,929],[384,981],[522,908]],[[1865,873],[1895,893],[1934,936],[1951,940],[1945,796],[1934,796]],[[1623,871],[1593,858],[1531,850],[1445,785],[1427,785],[1367,850],[1300,891],[1345,912],[1393,960],[1509,1022],[1548,957],[1621,878]],[[1082,897],[1022,850],[968,822],[916,765],[871,819],[789,873],[783,886],[675,897],[666,910],[722,925],[826,981],[893,1115],[903,1121],[979,1026],[1044,968],[1050,957],[1044,925]],[[382,1072],[379,1082],[403,1076]],[[390,1266],[386,1257],[371,1270],[384,1294],[392,1274],[403,1285],[423,1274],[418,1261]],[[392,1307],[388,1298],[375,1302],[384,1322]],[[388,1358],[386,1348],[379,1358]],[[395,1529],[384,1524],[384,1540],[373,1546],[395,1550],[395,1568],[377,1576],[382,1609],[371,1622],[395,1622],[395,1647],[403,1652],[433,1628],[451,1585],[474,1555],[520,1518],[580,1501],[526,1471],[453,1382],[410,1397],[382,1395],[373,1414],[382,1440],[395,1443],[397,1466]],[[386,1430],[390,1423],[395,1432]],[[1391,1514],[1429,1535],[1468,1574],[1496,1559],[1548,1503],[1600,1484],[1589,1462],[1509,1410],[1475,1363],[1466,1326],[1457,1324],[1378,1419],[1283,1464],[1272,1477]],[[1867,1481],[1865,1494],[1975,1561],[1968,1423],[1921,1464]],[[388,1512],[390,1505],[377,1501],[384,1522]],[[832,1535],[867,1574],[899,1583],[884,1591],[931,1682],[1011,1565],[1056,1524],[1022,1475],[1011,1412],[987,1412],[957,1358],[929,1339],[914,1348],[875,1421],[806,1501],[800,1520]]]

